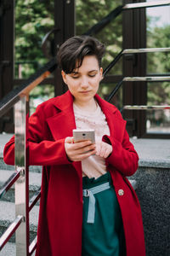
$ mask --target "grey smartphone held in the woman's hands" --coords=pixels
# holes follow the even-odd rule
[[[84,140],[91,141],[92,143],[95,143],[95,132],[94,130],[79,130],[74,129],[72,131],[74,142],[82,142]]]

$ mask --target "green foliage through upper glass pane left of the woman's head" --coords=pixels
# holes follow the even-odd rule
[[[47,60],[42,38],[54,27],[54,1],[15,1],[15,61],[22,63],[22,77],[35,73]],[[27,63],[26,63],[27,62]],[[15,68],[18,76],[18,65]]]

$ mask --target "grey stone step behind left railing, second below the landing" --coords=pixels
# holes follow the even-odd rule
[[[37,236],[39,207],[35,206],[30,212],[30,241]],[[8,226],[15,219],[15,206],[12,202],[0,201],[0,236],[7,230]],[[10,242],[14,242],[14,235],[10,238]]]

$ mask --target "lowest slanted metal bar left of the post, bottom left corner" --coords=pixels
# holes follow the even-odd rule
[[[14,234],[14,231],[20,226],[22,223],[23,216],[17,216],[14,222],[8,226],[8,229],[1,236],[0,241],[0,251],[3,249],[4,245],[8,242],[9,238]]]

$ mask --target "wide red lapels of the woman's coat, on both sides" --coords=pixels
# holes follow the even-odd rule
[[[95,95],[100,108],[110,127],[111,136],[116,136],[115,125],[124,122],[123,119],[117,118],[116,107],[109,102],[105,102],[99,95]],[[64,137],[72,137],[72,130],[76,129],[76,120],[73,111],[73,96],[68,90],[64,95],[57,96],[53,99],[52,104],[58,109],[58,112],[47,119],[48,126],[53,134],[54,140]],[[118,122],[116,122],[116,119]]]

